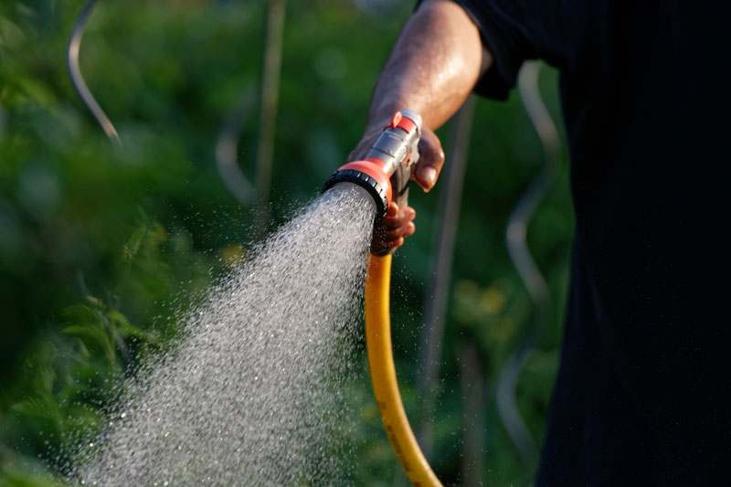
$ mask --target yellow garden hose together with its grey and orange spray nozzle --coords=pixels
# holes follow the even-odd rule
[[[398,111],[378,136],[362,161],[344,164],[325,182],[323,191],[334,185],[359,185],[376,204],[376,225],[386,217],[391,201],[405,206],[408,181],[418,162],[421,117],[413,111]],[[398,390],[391,344],[390,318],[391,253],[371,246],[365,278],[365,344],[376,403],[388,439],[397,459],[414,485],[440,486],[434,471],[418,446],[408,423]]]

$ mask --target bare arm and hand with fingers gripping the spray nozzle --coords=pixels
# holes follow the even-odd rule
[[[421,158],[413,175],[424,191],[437,183],[444,152],[433,131],[460,109],[477,79],[492,65],[470,16],[450,0],[426,0],[411,16],[381,73],[365,134],[350,156],[362,158],[394,112],[417,111],[424,121]],[[416,231],[410,207],[388,207],[383,244],[395,249]]]

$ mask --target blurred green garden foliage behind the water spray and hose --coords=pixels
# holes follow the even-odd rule
[[[74,430],[99,425],[111,385],[175,336],[186,303],[246,259],[254,239],[256,212],[222,184],[215,145],[249,93],[238,158],[253,178],[267,3],[101,2],[81,66],[120,130],[122,149],[106,140],[69,80],[65,49],[82,5],[0,3],[0,485],[51,484],[41,459],[53,458]],[[396,0],[287,4],[270,226],[345,162],[411,8]],[[558,117],[553,70],[543,70],[541,88]],[[449,127],[440,131],[449,153],[448,134]],[[535,313],[503,236],[543,154],[515,94],[478,102],[469,161],[433,465],[448,484],[522,485],[535,464],[522,461],[506,435],[494,388]],[[418,352],[439,191],[412,191],[411,204],[418,233],[397,252],[392,306],[398,372],[418,425]],[[539,442],[556,375],[572,218],[563,164],[529,232],[555,303],[517,386]],[[366,370],[365,354],[354,360]],[[358,425],[354,451],[346,453],[356,465],[349,482],[403,483],[367,374],[344,386]],[[481,387],[482,408],[465,407],[464,397]]]

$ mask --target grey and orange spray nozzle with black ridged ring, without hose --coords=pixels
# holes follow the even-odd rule
[[[323,186],[327,191],[338,183],[353,183],[376,201],[376,221],[386,217],[388,203],[406,205],[408,180],[418,161],[421,117],[413,111],[397,111],[378,135],[362,161],[340,166]]]

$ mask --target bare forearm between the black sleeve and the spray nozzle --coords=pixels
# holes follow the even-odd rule
[[[459,110],[491,63],[477,27],[461,6],[427,0],[408,20],[378,79],[369,128],[408,108],[436,130]]]

